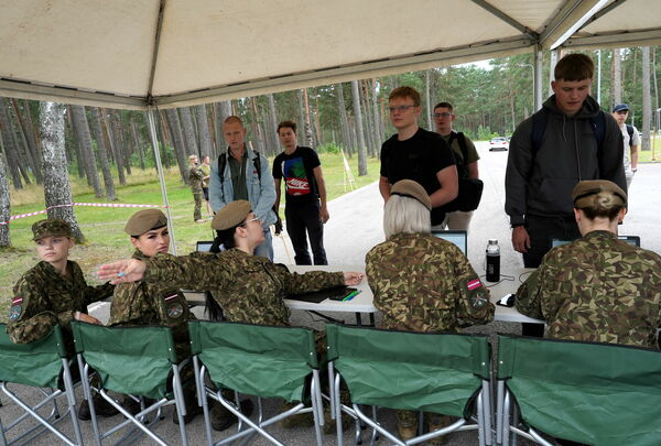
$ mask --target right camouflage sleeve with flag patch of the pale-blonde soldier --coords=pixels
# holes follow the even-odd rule
[[[455,276],[457,278],[459,298],[457,300],[457,318],[465,324],[481,325],[494,320],[495,307],[490,301],[489,290],[480,282],[470,266],[468,259],[456,249]]]

